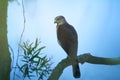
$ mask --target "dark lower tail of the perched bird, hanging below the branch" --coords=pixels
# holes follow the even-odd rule
[[[73,76],[75,78],[80,78],[81,73],[80,73],[79,64],[76,62],[75,64],[72,65],[72,68],[73,68]]]

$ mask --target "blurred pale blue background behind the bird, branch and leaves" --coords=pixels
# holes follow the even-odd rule
[[[8,4],[8,41],[14,52],[17,52],[24,24],[21,2],[18,0]],[[57,43],[54,18],[58,15],[63,15],[76,29],[78,55],[89,52],[99,57],[120,56],[119,0],[24,0],[24,6],[26,23],[22,41],[39,38],[41,46],[46,46],[42,52],[52,58],[52,68],[67,56]],[[73,78],[69,66],[59,80],[120,80],[120,65],[85,63],[79,66],[81,78]]]

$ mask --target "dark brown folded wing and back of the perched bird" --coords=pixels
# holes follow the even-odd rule
[[[69,55],[71,47],[77,45],[77,33],[71,25],[58,26],[57,29],[58,43]]]

